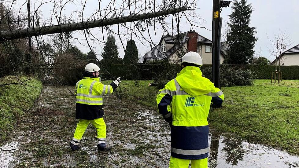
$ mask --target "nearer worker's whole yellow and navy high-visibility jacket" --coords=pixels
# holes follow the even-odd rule
[[[212,103],[224,95],[198,67],[187,66],[157,94],[159,113],[171,123],[171,155],[180,159],[204,159],[209,152],[208,115]]]

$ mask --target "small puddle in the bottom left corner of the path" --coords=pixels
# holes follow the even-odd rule
[[[8,168],[13,166],[13,161],[15,157],[13,156],[13,152],[17,150],[19,147],[19,143],[16,141],[10,142],[9,144],[3,145],[0,147],[0,167]]]

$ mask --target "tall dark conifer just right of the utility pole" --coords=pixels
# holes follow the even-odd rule
[[[255,27],[249,27],[252,13],[251,4],[246,0],[236,0],[233,12],[229,15],[227,43],[230,46],[225,58],[226,64],[249,64],[253,60],[254,45],[257,38]]]

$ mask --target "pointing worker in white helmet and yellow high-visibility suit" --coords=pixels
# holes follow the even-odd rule
[[[74,137],[70,142],[72,151],[81,148],[80,141],[82,136],[91,122],[97,130],[98,150],[108,151],[112,148],[107,145],[106,140],[106,124],[103,119],[103,97],[102,94],[110,94],[119,85],[120,77],[111,82],[110,85],[103,85],[101,79],[98,78],[101,69],[94,63],[85,66],[85,72],[82,74],[83,79],[76,83],[76,119],[79,119]]]

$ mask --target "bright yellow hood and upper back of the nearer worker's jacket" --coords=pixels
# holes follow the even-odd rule
[[[205,126],[214,84],[201,76],[197,67],[187,66],[173,79],[179,95],[172,97],[172,125]]]

